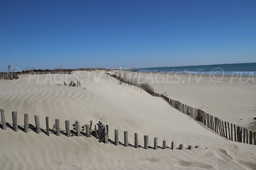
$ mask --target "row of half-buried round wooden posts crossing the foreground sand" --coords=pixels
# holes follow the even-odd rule
[[[50,129],[49,128],[49,117],[46,116],[45,117],[45,123],[46,123],[46,129],[41,128],[40,125],[40,119],[38,115],[35,115],[35,126],[33,126],[32,124],[29,124],[29,114],[24,114],[24,125],[18,125],[18,120],[17,120],[17,111],[13,111],[12,112],[12,123],[6,122],[5,119],[5,113],[4,113],[4,109],[0,109],[1,112],[1,123],[2,123],[2,129],[6,130],[6,127],[12,128],[15,132],[17,132],[19,129],[23,130],[25,133],[29,133],[29,129],[35,131],[36,133],[40,134],[41,132],[44,132],[47,136],[50,135],[50,133],[55,134],[56,136],[60,136],[60,135],[65,135],[67,137],[70,136],[86,136],[86,137],[90,137],[93,135],[94,133],[94,137],[96,139],[99,139],[100,142],[104,142],[105,144],[111,143],[114,144],[116,146],[118,146],[119,144],[125,146],[125,147],[135,147],[135,148],[139,148],[139,147],[143,147],[139,145],[138,142],[138,133],[134,133],[134,144],[130,144],[128,142],[128,131],[124,131],[124,143],[119,141],[119,130],[115,129],[114,130],[114,136],[115,139],[112,141],[110,139],[108,139],[108,134],[109,134],[109,127],[108,125],[103,125],[102,122],[97,123],[96,125],[94,125],[94,131],[92,131],[92,127],[90,127],[89,124],[85,125],[85,133],[81,132],[81,125],[80,122],[76,122],[75,124],[75,128],[74,130],[76,130],[76,132],[74,130],[70,130],[70,121],[66,120],[65,121],[65,130],[61,129],[60,127],[60,121],[59,119],[55,119],[55,128],[54,129]],[[97,129],[98,126],[98,129]],[[82,130],[83,131],[83,130]],[[163,147],[160,147],[157,143],[157,137],[154,138],[154,147],[150,147],[148,146],[148,135],[144,135],[144,149],[154,149],[157,150],[157,148],[162,148],[163,150],[165,150],[166,148],[172,149],[174,150],[174,142],[171,143],[171,147],[167,147],[166,146],[166,140],[163,140]],[[179,144],[179,147],[177,149],[179,150],[183,150],[183,144]],[[195,148],[198,148],[199,146],[196,145]],[[192,150],[192,145],[189,145],[187,147],[188,150]]]

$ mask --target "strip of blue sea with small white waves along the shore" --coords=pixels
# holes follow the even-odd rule
[[[133,69],[147,72],[166,72],[183,74],[224,74],[224,75],[251,75],[256,76],[256,62],[238,64],[216,64],[216,65],[189,65],[178,67],[154,67]]]

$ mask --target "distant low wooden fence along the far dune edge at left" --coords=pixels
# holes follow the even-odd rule
[[[0,73],[0,79],[16,79],[18,75],[23,74],[70,74],[68,71],[41,71],[41,72],[9,72],[9,73]]]

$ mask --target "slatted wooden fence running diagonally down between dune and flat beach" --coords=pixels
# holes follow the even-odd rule
[[[256,145],[256,133],[253,133],[252,130],[248,130],[246,127],[236,126],[235,124],[229,122],[223,122],[223,120],[219,119],[218,117],[212,116],[209,113],[202,111],[201,109],[185,105],[177,100],[170,99],[163,94],[158,94],[154,91],[147,92],[152,96],[162,97],[173,108],[176,108],[180,112],[201,122],[203,125],[215,131],[215,133],[219,133],[226,139],[247,144],[253,144],[254,139],[254,144]]]

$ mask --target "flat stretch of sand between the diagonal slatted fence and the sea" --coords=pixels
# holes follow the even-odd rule
[[[158,93],[240,126],[256,117],[256,77],[209,74],[143,73]]]

